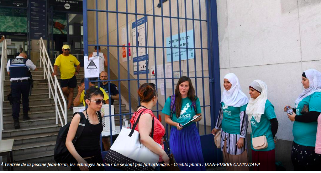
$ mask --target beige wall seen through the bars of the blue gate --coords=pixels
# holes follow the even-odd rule
[[[106,1],[98,1],[98,9],[100,10],[106,10]],[[161,15],[161,8],[157,7],[157,4],[159,1],[155,0],[154,6],[152,5],[151,0],[146,1],[146,14],[153,14],[153,9],[155,10],[156,15]],[[192,4],[191,1],[187,1],[186,4],[187,9],[187,17],[192,18]],[[194,1],[194,18],[199,19],[199,5],[198,1]],[[183,0],[178,1],[178,5],[176,1],[171,1],[171,14],[174,17],[177,17],[177,8],[179,7],[179,17],[185,17],[185,4]],[[88,3],[88,8],[94,9],[96,8],[95,1],[92,1],[91,3]],[[116,1],[108,1],[108,10],[116,11]],[[118,11],[120,12],[126,12],[126,1],[125,0],[118,0]],[[128,1],[128,12],[135,13],[135,1],[130,0]],[[206,19],[206,7],[205,7],[205,1],[201,1],[201,18]],[[137,13],[144,13],[144,1],[143,0],[137,0]],[[163,3],[163,15],[169,16],[169,1]],[[137,16],[137,19],[142,18],[143,16]],[[164,18],[164,35],[162,35],[162,23],[160,17],[155,17],[155,24],[153,23],[153,17],[149,16],[148,21],[148,46],[154,46],[154,31],[153,31],[153,25],[155,25],[155,41],[156,46],[163,46],[163,40],[164,39],[164,46],[166,46],[166,37],[170,36],[170,25],[169,25],[169,19]],[[110,45],[123,45],[126,44],[127,35],[125,37],[125,41],[122,40],[122,28],[126,29],[126,26],[128,27],[128,39],[129,42],[132,43],[132,23],[135,21],[135,15],[128,15],[128,23],[126,23],[126,14],[118,14],[118,28],[117,28],[117,16],[115,13],[109,13],[108,14],[108,33],[107,33],[107,17],[106,13],[99,12],[98,13],[98,37],[99,37],[99,44],[107,44],[107,35],[109,36],[109,44]],[[201,36],[200,36],[200,23],[199,21],[195,21],[195,47],[200,48],[201,47]],[[179,32],[185,32],[185,20],[179,20]],[[187,31],[193,29],[193,23],[191,21],[187,21]],[[172,19],[172,35],[178,34],[178,20]],[[96,44],[96,13],[95,12],[88,12],[88,43],[89,44]],[[119,42],[117,43],[117,36],[119,38]],[[207,24],[206,22],[202,22],[202,43],[203,48],[207,48]],[[131,44],[132,45],[132,44]],[[107,47],[102,47],[102,50],[107,49]],[[133,52],[133,49],[131,48]],[[89,47],[88,51],[92,52],[94,49],[93,47]],[[118,52],[119,51],[119,52]],[[119,59],[122,59],[122,48],[117,47],[109,47],[109,52],[113,55],[113,57],[117,58],[119,53]],[[133,53],[132,53],[133,54]],[[156,55],[154,54],[154,49],[149,48],[148,49],[149,54],[149,67],[155,65],[155,56],[156,58],[156,64],[164,64],[163,62],[163,49],[157,48],[156,49]],[[188,60],[189,63],[189,75],[190,77],[195,77],[195,70],[197,77],[202,76],[202,64],[200,63],[202,61],[201,59],[201,51],[196,50],[195,51],[195,57],[196,57],[196,68],[195,68],[195,62],[194,59]],[[164,56],[165,56],[165,63],[166,63],[166,49],[164,50]],[[123,66],[127,70],[127,63],[128,62],[122,62],[120,60],[119,64],[120,66]],[[182,67],[182,75],[187,76],[187,60],[182,60],[181,62]],[[110,66],[117,66],[117,64],[111,64]],[[112,67],[111,67],[112,68]],[[174,70],[179,69],[179,62],[176,61],[173,63]],[[203,50],[203,70],[204,70],[204,76],[208,76],[208,63],[207,63],[207,50]],[[134,78],[137,78],[137,75],[134,75],[133,73],[133,60],[129,61],[129,72],[130,75]],[[115,72],[114,72],[115,73]],[[127,71],[121,71],[121,73],[126,73]],[[115,73],[117,74],[117,73]],[[142,74],[139,76],[139,78],[146,78],[146,74]],[[151,78],[151,72],[148,74],[148,78]],[[195,87],[195,80],[192,79],[193,85]],[[145,83],[146,80],[140,80],[140,83]],[[151,82],[149,80],[149,82]],[[199,78],[197,79],[197,96],[200,98],[201,105],[209,105],[209,85],[208,85],[208,78],[204,78],[204,86],[202,84],[202,80]],[[126,84],[127,85],[127,84]],[[174,85],[175,87],[176,85]],[[167,86],[168,88],[169,86]],[[203,97],[203,89],[205,92],[205,95]],[[168,98],[170,95],[172,95],[172,89],[168,88],[166,89],[166,96],[162,96],[160,93],[160,89],[158,91],[158,97],[159,97],[159,103],[160,105],[164,105],[165,98]],[[136,94],[137,93],[137,81],[131,82],[131,93]],[[136,95],[137,96],[137,95]],[[203,100],[205,103],[203,104]],[[159,108],[160,110],[162,108]],[[204,111],[202,108],[202,112],[204,115]],[[210,110],[209,107],[206,108],[206,125],[210,125]],[[204,124],[204,122],[200,122],[201,124]]]

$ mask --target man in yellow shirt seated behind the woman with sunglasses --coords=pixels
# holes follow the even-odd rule
[[[91,78],[90,80],[96,80],[96,78]],[[89,82],[89,87],[92,87],[92,86],[95,86],[95,82]],[[97,87],[97,86],[95,86]],[[84,96],[85,96],[85,78],[83,78],[81,81],[80,81],[80,86],[78,86],[78,94],[76,96],[76,98],[74,99],[74,106],[78,106],[80,105],[80,103],[83,103],[83,106],[85,106],[85,99],[84,99]],[[105,104],[109,104],[109,97],[106,93],[106,91],[99,87],[99,89],[104,93],[104,98],[103,100],[105,101]]]

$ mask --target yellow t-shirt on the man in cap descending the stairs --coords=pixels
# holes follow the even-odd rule
[[[67,57],[60,54],[55,61],[54,65],[59,66],[61,79],[70,79],[75,75],[75,65],[78,66],[80,62],[74,55],[69,54]]]

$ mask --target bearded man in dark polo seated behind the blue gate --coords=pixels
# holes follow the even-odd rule
[[[106,71],[100,72],[100,80],[108,80],[108,75]],[[108,95],[108,82],[100,82],[100,87],[103,88]],[[110,82],[110,104],[114,105],[114,100],[119,100],[119,92],[117,86]]]

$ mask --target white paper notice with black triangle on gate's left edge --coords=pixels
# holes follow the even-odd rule
[[[85,77],[99,77],[99,57],[84,57]]]

